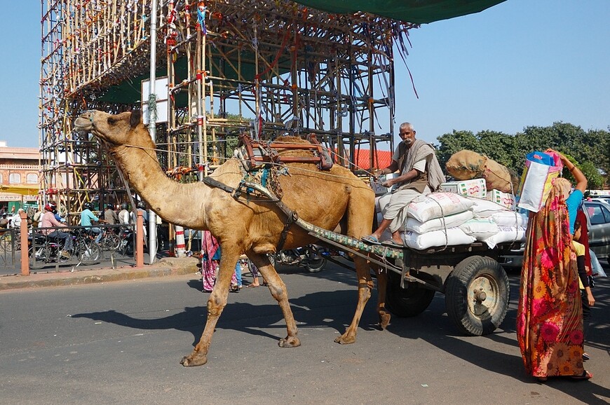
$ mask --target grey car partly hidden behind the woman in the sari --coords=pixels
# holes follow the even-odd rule
[[[589,247],[600,262],[610,263],[610,205],[602,201],[585,201],[583,211],[587,217]],[[522,243],[519,249],[500,256],[499,262],[505,268],[521,268],[523,261]]]

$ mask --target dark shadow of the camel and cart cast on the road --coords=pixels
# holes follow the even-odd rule
[[[308,274],[302,268],[288,267],[280,268],[280,272],[287,274]],[[336,268],[332,272],[324,271],[325,278],[341,281],[344,284],[354,284],[353,289],[339,291],[316,291],[311,294],[290,299],[290,306],[297,320],[299,329],[327,328],[334,329],[339,334],[344,333],[346,326],[351,322],[353,310],[358,300],[355,289],[355,274],[351,270]],[[323,273],[309,273],[312,277],[320,277]],[[592,320],[591,333],[587,336],[587,345],[608,350],[607,321],[610,287],[606,280],[599,284]],[[189,281],[189,286],[201,290],[201,282]],[[289,286],[290,287],[290,286]],[[456,333],[452,321],[445,315],[445,298],[437,294],[431,306],[417,317],[399,318],[393,316],[388,327],[388,332],[405,339],[421,339],[436,348],[447,352],[449,355],[458,357],[465,362],[477,367],[509,376],[520,383],[527,384],[536,390],[538,383],[524,372],[522,357],[515,336],[515,320],[517,314],[517,303],[519,299],[519,279],[510,277],[510,303],[506,318],[493,334],[487,336],[465,337]],[[208,296],[206,295],[205,298]],[[369,303],[362,315],[359,330],[378,330],[375,303],[377,302],[377,291],[374,290]],[[604,315],[602,315],[602,313]],[[205,306],[186,307],[182,312],[159,317],[156,319],[138,319],[130,315],[117,313],[116,311],[104,311],[97,313],[80,313],[72,315],[73,318],[88,318],[90,320],[108,322],[133,329],[159,330],[176,329],[187,331],[193,335],[195,345],[203,332],[205,325]],[[599,315],[596,317],[596,315]],[[285,336],[285,322],[280,308],[275,303],[252,305],[250,303],[229,303],[222,313],[217,324],[217,329],[240,331],[253,336],[264,336],[278,341]],[[379,338],[383,338],[379,334]],[[497,350],[482,347],[481,339],[489,339],[494,343],[512,347],[512,350]],[[356,345],[358,342],[355,343]],[[548,387],[560,390],[578,401],[586,404],[605,404],[601,398],[609,398],[610,390],[595,383],[595,378],[589,381],[574,381],[569,378],[550,378]]]

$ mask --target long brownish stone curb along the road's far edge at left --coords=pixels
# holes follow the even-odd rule
[[[65,287],[70,285],[95,284],[137,280],[151,277],[175,275],[195,275],[199,271],[197,259],[161,259],[158,263],[144,268],[99,268],[78,272],[36,273],[32,275],[11,275],[0,277],[0,291],[37,287]]]

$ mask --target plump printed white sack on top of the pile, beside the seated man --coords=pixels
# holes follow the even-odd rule
[[[455,193],[430,193],[413,200],[407,207],[407,216],[426,222],[428,219],[464,212],[474,203]]]

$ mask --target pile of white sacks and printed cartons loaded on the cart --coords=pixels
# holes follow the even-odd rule
[[[514,207],[512,194],[487,193],[484,179],[444,183],[440,192],[409,204],[402,239],[418,250],[469,245],[475,240],[493,249],[502,242],[524,240],[527,217],[512,211]]]

